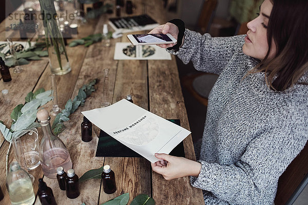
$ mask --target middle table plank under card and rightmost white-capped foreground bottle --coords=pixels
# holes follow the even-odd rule
[[[131,15],[140,15],[144,12],[143,1],[134,1],[134,6],[136,10]],[[122,42],[129,42],[127,34],[123,35]],[[119,60],[116,79],[112,103],[131,94],[134,104],[148,109],[145,60]],[[100,204],[127,192],[130,196],[128,203],[139,194],[151,196],[150,163],[145,158],[105,157],[104,165],[110,165],[114,171],[117,191],[113,194],[106,194],[101,187]]]

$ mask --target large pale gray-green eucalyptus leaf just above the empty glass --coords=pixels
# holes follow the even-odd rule
[[[27,127],[29,127],[35,121],[35,119],[36,119],[36,109],[35,110],[27,110],[11,126],[11,130],[13,130],[13,131],[24,130]]]

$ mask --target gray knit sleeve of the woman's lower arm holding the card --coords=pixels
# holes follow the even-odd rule
[[[304,121],[284,125],[283,129],[267,129],[232,165],[200,161],[201,172],[198,177],[190,177],[191,185],[230,204],[272,204],[279,176],[306,144],[308,129]]]

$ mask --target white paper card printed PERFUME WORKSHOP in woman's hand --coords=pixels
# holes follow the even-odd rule
[[[81,112],[95,126],[154,163],[155,153],[169,154],[190,131],[122,99]]]

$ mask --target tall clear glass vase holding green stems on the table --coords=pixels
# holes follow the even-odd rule
[[[49,56],[51,73],[65,75],[71,71],[64,39],[57,24],[57,14],[53,0],[39,0],[43,17],[46,46]]]

